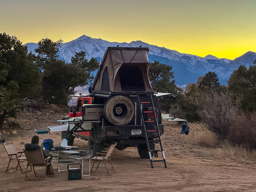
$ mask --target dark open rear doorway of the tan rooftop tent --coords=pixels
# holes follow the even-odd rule
[[[143,75],[137,66],[122,66],[119,79],[122,91],[145,91]]]

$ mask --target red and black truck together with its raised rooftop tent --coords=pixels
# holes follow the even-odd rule
[[[62,121],[62,138],[69,145],[76,137],[88,140],[92,156],[117,142],[117,149],[137,147],[141,158],[149,158],[147,143],[154,150],[155,142],[146,140],[156,140],[157,129],[162,135],[163,124],[148,68],[148,48],[108,47],[89,93]]]

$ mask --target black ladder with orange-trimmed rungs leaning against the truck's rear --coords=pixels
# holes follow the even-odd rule
[[[150,158],[151,168],[154,168],[153,162],[159,162],[159,161],[163,161],[164,167],[167,167],[166,159],[165,159],[165,155],[164,155],[164,151],[163,151],[163,145],[162,145],[162,141],[161,141],[161,137],[160,137],[160,131],[159,131],[159,127],[158,127],[158,121],[157,121],[157,117],[156,117],[156,111],[155,111],[155,108],[154,108],[152,94],[154,94],[154,93],[150,93],[149,94],[150,95],[150,99],[151,99],[150,102],[140,102],[140,96],[139,96],[139,94],[137,94],[137,97],[138,97],[138,100],[139,100],[139,103],[140,103],[140,116],[141,116],[142,124],[143,124],[143,128],[144,128],[145,140],[146,140],[146,144],[147,144],[147,147],[148,147],[148,154],[149,154],[149,158]],[[150,105],[152,107],[152,110],[143,111],[143,104]],[[145,121],[144,117],[143,117],[143,113],[153,113],[154,120],[150,119],[150,120]],[[145,122],[154,122],[154,124],[156,125],[156,129],[155,130],[147,130],[146,126],[145,126]],[[147,133],[148,132],[153,132],[153,131],[157,132],[158,139],[157,140],[148,140],[148,134]],[[149,142],[154,142],[154,143],[158,143],[159,142],[160,149],[159,150],[151,150]],[[158,155],[157,155],[158,151],[162,152],[163,160],[152,160],[151,152],[154,152],[154,157],[158,157]]]

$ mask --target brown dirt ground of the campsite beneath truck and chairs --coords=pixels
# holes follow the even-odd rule
[[[28,114],[27,118],[24,115],[21,120],[21,116],[20,122],[26,127],[22,130],[2,131],[1,137],[6,142],[13,142],[17,150],[22,151],[24,144],[30,143],[31,137],[35,135],[33,129],[58,124],[55,120],[60,119],[63,113],[58,116],[53,114],[44,114],[48,121]],[[189,135],[193,135],[198,124],[189,124],[189,135],[180,134],[180,125],[166,121],[164,124],[162,140],[167,168],[164,168],[163,162],[155,162],[152,169],[149,160],[141,159],[135,148],[126,148],[123,151],[115,149],[112,154],[115,172],[108,175],[101,167],[82,180],[67,180],[67,171],[58,172],[56,168],[54,177],[42,181],[25,181],[25,174],[20,170],[6,174],[9,159],[1,144],[0,191],[256,191],[256,164],[253,161],[225,157],[220,155],[218,147],[205,147],[188,142]],[[59,132],[38,136],[40,143],[50,138],[55,146],[61,144]],[[87,150],[87,141],[76,138],[74,145],[81,150]],[[26,163],[22,163],[22,167],[26,168]],[[53,167],[56,167],[55,161]],[[84,173],[86,171],[87,168]]]

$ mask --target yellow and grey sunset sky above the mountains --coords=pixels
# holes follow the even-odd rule
[[[23,44],[141,40],[181,53],[234,59],[256,52],[256,0],[0,0],[0,33]]]

